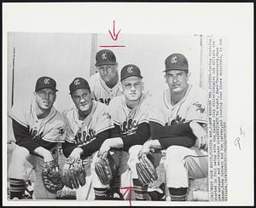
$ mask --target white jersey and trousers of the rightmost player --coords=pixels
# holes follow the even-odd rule
[[[153,96],[154,103],[149,105],[149,120],[162,125],[185,123],[194,120],[207,125],[206,92],[188,85],[186,94],[175,105],[171,104],[170,90]],[[189,178],[207,176],[207,152],[197,147],[171,146],[166,149],[164,166],[166,187],[188,188]]]

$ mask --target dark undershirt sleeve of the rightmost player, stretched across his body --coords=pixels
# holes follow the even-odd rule
[[[158,139],[163,149],[172,145],[193,147],[196,137],[193,134],[189,123],[162,126],[155,122],[149,122],[151,138]]]

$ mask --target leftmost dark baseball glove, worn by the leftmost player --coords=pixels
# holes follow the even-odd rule
[[[61,169],[55,160],[44,162],[41,176],[44,188],[52,194],[56,194],[64,187],[61,180]]]

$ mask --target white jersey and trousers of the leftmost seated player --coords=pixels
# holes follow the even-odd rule
[[[32,139],[39,136],[46,142],[65,142],[66,137],[66,121],[55,107],[50,109],[48,116],[38,119],[35,112],[36,102],[23,103],[24,107],[14,106],[9,113],[9,117],[15,119],[16,122],[29,129],[29,134]],[[26,179],[27,171],[20,159],[25,159],[30,162],[36,173],[33,199],[55,199],[56,194],[49,193],[45,188],[41,178],[44,159],[32,154],[22,154],[22,148],[18,145],[12,153],[11,165],[9,166],[9,174],[14,178]],[[58,161],[58,153],[56,147],[51,150],[55,161]],[[18,158],[15,159],[15,158]]]

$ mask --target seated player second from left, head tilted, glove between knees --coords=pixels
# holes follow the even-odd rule
[[[66,112],[67,138],[62,149],[67,158],[83,159],[84,162],[86,183],[77,189],[77,199],[94,199],[90,164],[93,154],[108,138],[113,122],[107,105],[92,100],[90,85],[84,78],[74,78],[69,90],[75,107]]]

